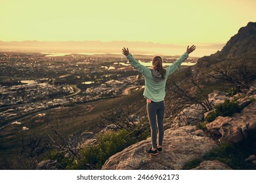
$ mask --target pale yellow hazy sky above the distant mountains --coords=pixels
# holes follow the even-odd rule
[[[0,41],[225,43],[255,0],[0,0]]]

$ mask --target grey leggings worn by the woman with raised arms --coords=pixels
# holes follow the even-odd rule
[[[163,144],[163,116],[165,114],[165,102],[147,103],[146,110],[148,112],[148,120],[150,121],[152,147],[156,148],[157,130],[158,145],[161,146]],[[158,123],[156,123],[156,119],[158,119]]]

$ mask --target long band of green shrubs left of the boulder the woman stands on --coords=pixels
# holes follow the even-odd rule
[[[65,153],[53,152],[49,159],[57,161],[56,169],[100,169],[108,158],[149,135],[150,128],[145,120],[133,130],[119,129],[98,135],[95,144],[88,144],[79,151],[80,158],[66,158]]]

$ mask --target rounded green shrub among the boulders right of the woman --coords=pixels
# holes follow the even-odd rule
[[[232,116],[235,112],[241,112],[241,108],[235,101],[226,99],[224,103],[215,106],[215,110],[205,117],[207,122],[213,122],[217,116]]]

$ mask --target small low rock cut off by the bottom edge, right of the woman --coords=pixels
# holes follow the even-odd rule
[[[219,160],[213,160],[213,161],[203,161],[200,163],[198,167],[195,167],[192,170],[232,170],[228,165],[225,163],[219,161]]]

